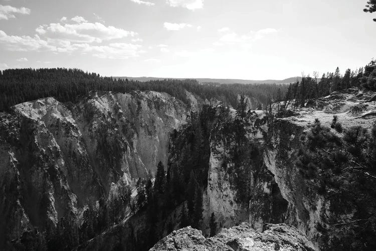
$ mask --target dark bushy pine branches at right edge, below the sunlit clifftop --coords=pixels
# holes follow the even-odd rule
[[[349,239],[349,243],[341,243],[343,246],[372,249],[376,246],[371,237],[376,234],[376,123],[370,131],[361,126],[343,130],[334,116],[331,128],[322,126],[318,119],[314,121],[309,133],[301,138],[296,166],[309,187],[331,201],[330,211],[337,215],[351,213],[353,217],[324,219],[326,226],[317,229],[323,237],[340,231],[357,240]]]

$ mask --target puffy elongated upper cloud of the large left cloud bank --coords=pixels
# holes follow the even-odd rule
[[[137,35],[135,32],[115,28],[113,26],[105,26],[98,22],[89,23],[81,17],[75,17],[73,19],[75,19],[74,21],[77,23],[51,23],[49,25],[39,26],[36,32],[39,35],[52,39],[64,39],[76,43],[101,43],[106,40],[120,39],[129,36],[134,37]]]

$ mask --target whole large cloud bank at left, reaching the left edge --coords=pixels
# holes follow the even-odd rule
[[[129,42],[124,42],[126,37],[130,37]],[[116,39],[122,39],[122,42],[112,41]],[[137,42],[142,42],[142,39],[135,32],[90,23],[82,17],[74,17],[64,24],[39,26],[34,36],[12,36],[0,30],[0,46],[9,51],[75,52],[75,55],[81,53],[98,58],[127,59],[144,52]],[[25,62],[27,59],[18,61]]]

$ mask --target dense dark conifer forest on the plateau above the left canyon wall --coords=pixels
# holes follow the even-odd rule
[[[285,93],[287,85],[277,84],[199,84],[197,80],[165,79],[146,82],[128,79],[102,77],[79,69],[8,69],[0,72],[0,110],[38,98],[53,96],[61,102],[78,102],[91,90],[129,92],[132,90],[153,90],[166,92],[189,104],[185,90],[201,98],[215,98],[233,107],[238,94],[245,93],[261,104],[268,96]],[[255,104],[256,106],[257,104]],[[256,107],[255,107],[256,108]]]

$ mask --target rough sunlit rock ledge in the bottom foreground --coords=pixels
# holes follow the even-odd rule
[[[258,232],[249,223],[223,228],[211,238],[205,238],[200,230],[190,226],[173,231],[159,240],[151,251],[161,250],[318,250],[307,237],[294,226],[265,224]]]

